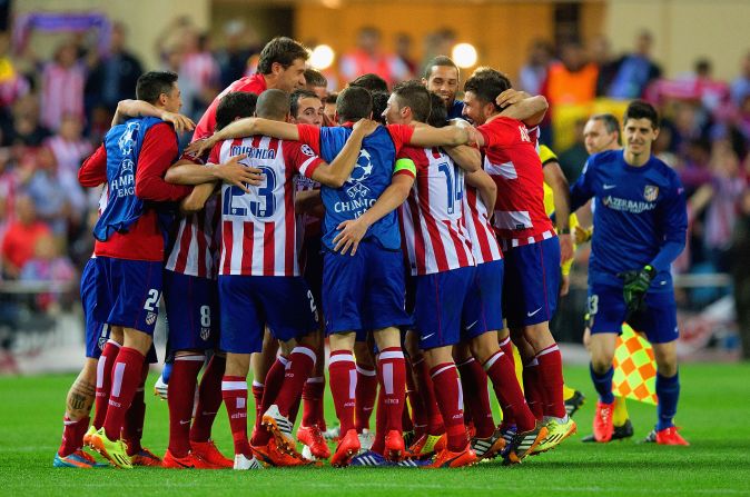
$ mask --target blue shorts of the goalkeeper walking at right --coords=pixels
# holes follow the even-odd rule
[[[589,287],[589,315],[592,334],[622,332],[625,320],[625,299],[622,287],[592,285]],[[644,332],[651,344],[667,344],[677,340],[677,305],[673,291],[648,292],[645,309],[628,319],[635,330]]]

